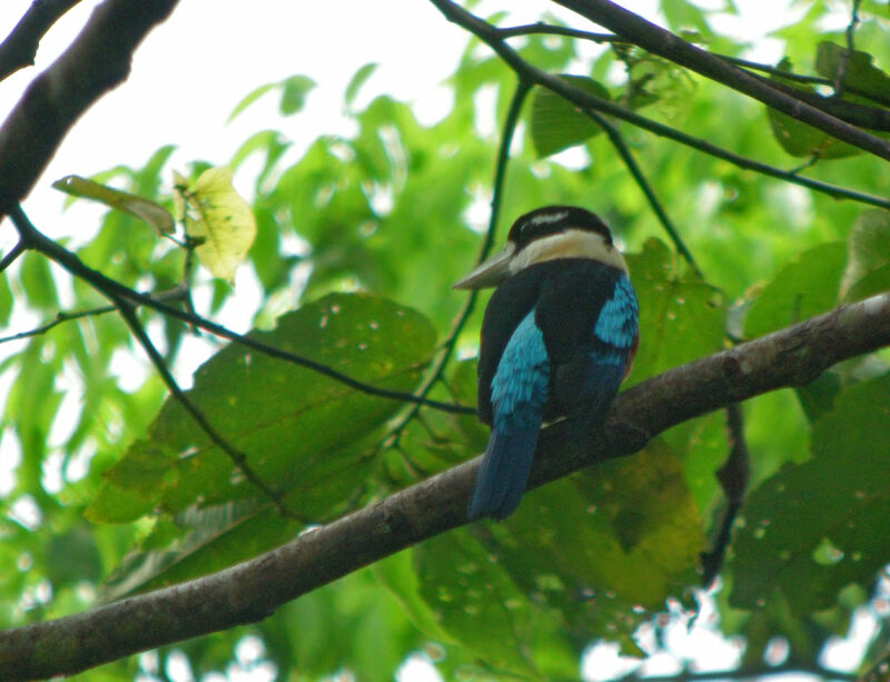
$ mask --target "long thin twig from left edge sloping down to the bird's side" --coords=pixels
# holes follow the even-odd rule
[[[179,308],[168,306],[159,300],[156,300],[149,294],[144,294],[141,291],[131,289],[119,281],[111,279],[110,277],[106,277],[100,271],[85,265],[83,261],[80,260],[80,258],[78,258],[75,254],[40,233],[28,219],[28,216],[24,214],[21,206],[13,208],[9,215],[12,219],[12,223],[16,225],[16,228],[19,230],[19,235],[24,241],[27,248],[40,251],[50,260],[57,263],[62,268],[68,270],[72,276],[89,283],[109,298],[120,298],[134,305],[146,306],[166,315],[167,317],[172,317],[186,324],[195,325],[196,327],[205,329],[215,336],[226,338],[230,342],[237,343],[238,345],[268,355],[269,357],[283,359],[288,363],[299,365],[300,367],[312,369],[313,372],[339,382],[340,384],[344,384],[349,388],[354,388],[360,393],[374,395],[380,398],[387,398],[390,401],[419,403],[443,412],[451,412],[455,414],[476,414],[475,408],[467,407],[465,405],[455,405],[451,403],[442,403],[439,401],[432,401],[429,398],[419,398],[411,393],[389,391],[388,388],[380,388],[378,386],[365,384],[322,363],[317,363],[307,357],[276,348],[275,346],[269,346],[268,344],[264,344],[263,342],[251,338],[250,336],[231,332],[222,325],[218,325],[209,319],[205,319],[199,315],[192,315],[185,310],[180,310]]]

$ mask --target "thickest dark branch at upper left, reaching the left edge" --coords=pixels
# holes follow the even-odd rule
[[[177,0],[106,0],[28,87],[0,128],[0,217],[31,190],[78,118],[130,72],[130,59]]]

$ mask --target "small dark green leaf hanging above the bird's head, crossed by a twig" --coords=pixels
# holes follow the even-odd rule
[[[560,80],[601,99],[609,99],[609,91],[590,78],[560,76]],[[528,132],[538,157],[580,145],[601,131],[600,126],[562,96],[546,88],[535,88]]]

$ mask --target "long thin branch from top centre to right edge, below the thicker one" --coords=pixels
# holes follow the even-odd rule
[[[580,88],[567,83],[556,76],[547,73],[546,71],[542,71],[541,69],[525,61],[513,48],[511,48],[501,39],[501,37],[497,34],[497,29],[486,23],[475,14],[467,12],[462,7],[451,2],[449,0],[432,0],[432,2],[443,12],[443,14],[445,14],[449,21],[453,21],[465,28],[479,38],[483,42],[488,45],[488,47],[491,47],[520,76],[520,78],[524,78],[530,82],[543,86],[548,90],[552,90],[553,92],[564,97],[582,109],[593,109],[595,111],[600,111],[601,113],[607,113],[636,126],[637,128],[649,130],[650,132],[660,137],[672,139],[681,145],[698,149],[699,151],[724,161],[729,161],[730,164],[733,164],[734,166],[745,170],[753,170],[765,176],[793,182],[794,185],[800,185],[838,199],[851,199],[861,204],[890,209],[890,199],[884,197],[876,197],[873,195],[854,191],[843,187],[837,187],[828,182],[798,176],[793,172],[781,170],[773,166],[768,166],[767,164],[761,164],[760,161],[755,161],[753,159],[728,151],[701,138],[692,137],[684,132],[680,132],[679,130],[674,130],[669,126],[653,121],[652,119],[636,113],[635,111],[625,109],[615,102],[602,99],[591,95],[590,92],[581,90]]]

